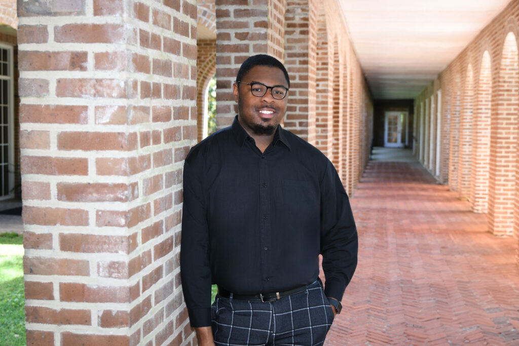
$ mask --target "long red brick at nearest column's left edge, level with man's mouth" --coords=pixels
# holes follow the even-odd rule
[[[86,124],[87,106],[20,105],[20,122]]]

